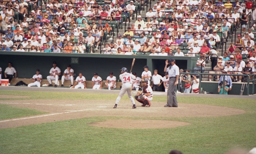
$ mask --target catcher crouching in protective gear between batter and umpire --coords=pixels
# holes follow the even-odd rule
[[[152,101],[153,99],[153,91],[152,88],[150,86],[148,86],[148,79],[142,79],[141,80],[142,83],[142,92],[138,91],[137,95],[134,96],[134,98],[142,103],[142,107],[150,107],[151,103],[150,101]]]

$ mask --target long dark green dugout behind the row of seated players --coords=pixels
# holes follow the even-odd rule
[[[36,69],[40,69],[43,79],[49,75],[52,62],[56,61],[62,73],[68,64],[72,65],[78,76],[81,72],[86,80],[91,80],[93,74],[97,72],[103,80],[112,71],[119,78],[120,69],[126,67],[130,71],[132,59],[136,58],[132,72],[141,75],[144,65],[148,65],[149,70],[154,73],[158,69],[160,75],[164,75],[165,60],[171,56],[149,56],[149,55],[104,55],[104,54],[78,54],[78,53],[33,53],[33,52],[13,52],[0,51],[0,67],[3,72],[8,67],[8,62],[12,62],[18,73],[18,78],[32,78]],[[173,56],[172,56],[173,57]],[[180,69],[193,69],[198,57],[174,57]]]

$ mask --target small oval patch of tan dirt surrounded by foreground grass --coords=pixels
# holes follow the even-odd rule
[[[102,122],[91,123],[91,126],[106,128],[128,128],[128,129],[153,129],[153,128],[174,128],[186,126],[190,123],[169,120],[135,120],[135,119],[112,119]]]

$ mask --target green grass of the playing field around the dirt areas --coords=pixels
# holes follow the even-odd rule
[[[1,95],[29,96],[26,99],[93,99],[115,100],[114,94],[0,91]],[[0,99],[17,100],[17,99]],[[122,101],[128,101],[128,97]],[[166,97],[155,96],[154,101],[166,102]],[[193,103],[232,107],[246,111],[242,115],[219,117],[132,117],[189,122],[190,125],[162,129],[118,129],[88,125],[108,119],[131,117],[94,116],[0,129],[1,154],[168,154],[177,149],[184,154],[224,154],[231,148],[251,149],[256,143],[256,103],[253,99],[220,99],[178,97],[179,103]],[[0,105],[0,119],[40,114],[24,109]],[[4,110],[2,109],[4,108]],[[16,110],[15,112],[12,112]],[[27,110],[27,109],[26,109]],[[5,111],[3,114],[2,111]],[[16,113],[19,113],[16,115]]]

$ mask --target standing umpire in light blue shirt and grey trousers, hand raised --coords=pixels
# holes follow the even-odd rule
[[[167,104],[164,107],[178,107],[178,102],[175,94],[175,87],[178,84],[180,69],[175,64],[175,59],[165,61],[164,71],[169,74],[169,87],[167,92]]]

